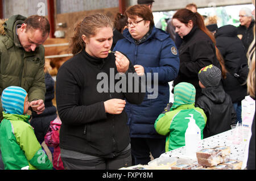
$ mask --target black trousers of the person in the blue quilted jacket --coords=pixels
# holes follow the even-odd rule
[[[150,162],[150,153],[154,158],[165,153],[166,139],[162,138],[131,138],[132,165],[147,165]]]

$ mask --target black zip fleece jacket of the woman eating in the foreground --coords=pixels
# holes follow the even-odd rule
[[[60,148],[113,158],[129,145],[126,112],[105,113],[104,101],[126,98],[140,104],[145,93],[118,92],[113,87],[119,82],[114,77],[117,73],[113,53],[102,59],[89,56],[85,50],[60,67],[56,77],[56,103],[62,121]],[[127,73],[135,73],[131,62]],[[140,79],[133,79],[126,81],[126,90],[134,83],[141,88]]]

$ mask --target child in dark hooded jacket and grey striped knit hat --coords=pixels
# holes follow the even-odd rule
[[[202,95],[196,100],[196,107],[207,115],[204,138],[228,131],[231,124],[236,124],[237,116],[230,96],[220,83],[221,70],[208,65],[199,71],[198,77]]]

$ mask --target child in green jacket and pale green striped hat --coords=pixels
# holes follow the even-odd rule
[[[166,152],[185,146],[185,132],[189,122],[185,117],[190,117],[189,114],[193,114],[203,139],[207,116],[201,108],[195,107],[195,96],[196,89],[191,83],[180,82],[174,87],[174,103],[167,104],[164,112],[156,119],[156,132],[166,135]]]

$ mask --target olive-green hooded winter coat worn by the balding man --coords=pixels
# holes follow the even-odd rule
[[[16,35],[17,24],[24,23],[26,17],[11,16],[0,20],[0,95],[9,86],[19,86],[28,93],[28,101],[43,99],[46,93],[44,83],[44,47],[40,45],[34,52],[26,52]],[[0,120],[2,120],[0,100]]]

